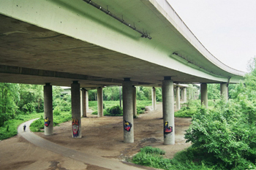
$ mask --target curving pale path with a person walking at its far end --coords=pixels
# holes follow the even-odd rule
[[[34,119],[37,120],[37,119]],[[29,120],[26,123],[22,123],[18,127],[18,134],[20,136],[23,136],[26,140],[31,142],[32,144],[36,145],[37,147],[42,147],[45,150],[50,150],[52,152],[56,152],[58,154],[61,154],[65,157],[75,159],[77,161],[81,161],[86,164],[94,165],[94,166],[100,166],[105,169],[113,169],[113,170],[142,170],[142,169],[148,169],[152,170],[153,168],[145,167],[145,166],[137,166],[132,163],[127,163],[123,161],[118,161],[115,159],[108,159],[108,158],[102,158],[97,155],[91,155],[87,154],[85,152],[80,152],[78,150],[72,150],[68,147],[63,147],[59,144],[50,142],[46,139],[41,138],[40,136],[37,136],[36,134],[32,133],[29,129],[29,125],[34,121]],[[26,132],[23,132],[23,125],[26,124]]]

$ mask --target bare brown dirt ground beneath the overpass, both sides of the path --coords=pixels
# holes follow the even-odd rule
[[[175,118],[176,144],[163,144],[162,104],[157,104],[157,111],[148,110],[134,119],[135,142],[123,142],[122,117],[89,117],[82,118],[82,138],[72,139],[71,122],[61,123],[54,127],[53,136],[36,133],[42,138],[73,150],[99,155],[104,158],[126,160],[140,151],[141,147],[152,146],[165,150],[166,158],[190,144],[184,139],[184,131],[189,127],[191,118]],[[54,118],[54,117],[53,117]],[[0,142],[0,169],[87,169],[104,170],[72,158],[65,158],[49,150],[30,144],[21,136],[15,136]]]

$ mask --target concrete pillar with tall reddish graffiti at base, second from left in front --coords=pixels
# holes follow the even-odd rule
[[[73,81],[71,84],[71,107],[72,107],[72,138],[81,138],[80,117],[80,84]]]

